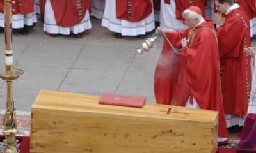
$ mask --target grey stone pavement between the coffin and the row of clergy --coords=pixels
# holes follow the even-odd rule
[[[13,34],[16,69],[24,70],[13,82],[15,107],[30,111],[40,89],[99,95],[102,92],[145,96],[154,102],[154,69],[163,38],[143,55],[136,48],[143,40],[116,39],[92,18],[93,28],[83,38],[44,33],[39,22],[28,36]],[[152,33],[148,34],[150,36]],[[4,34],[0,34],[0,68],[4,69]],[[0,110],[5,109],[6,83],[0,80]]]

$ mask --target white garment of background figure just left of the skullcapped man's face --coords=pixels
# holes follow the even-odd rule
[[[174,0],[171,0],[171,4],[166,4],[164,0],[161,0],[160,26],[164,31],[177,31],[188,28],[181,20],[176,19],[175,10],[176,4]]]

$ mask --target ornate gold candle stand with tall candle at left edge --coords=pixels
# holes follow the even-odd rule
[[[6,153],[17,153],[16,143],[16,114],[12,94],[12,80],[19,78],[23,71],[13,69],[13,51],[12,51],[12,4],[15,1],[4,0],[4,31],[5,31],[5,70],[0,71],[0,78],[6,80],[6,112],[3,117],[5,135],[4,142],[8,145]]]

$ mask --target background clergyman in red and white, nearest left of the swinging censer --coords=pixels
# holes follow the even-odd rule
[[[145,38],[155,28],[152,0],[106,0],[102,26],[116,38]]]

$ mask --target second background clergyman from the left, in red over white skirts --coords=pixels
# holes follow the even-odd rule
[[[40,0],[44,31],[51,36],[83,36],[92,28],[89,15],[91,4],[92,0]]]

